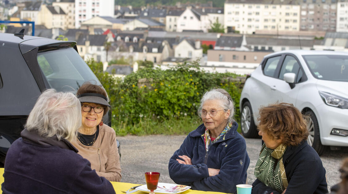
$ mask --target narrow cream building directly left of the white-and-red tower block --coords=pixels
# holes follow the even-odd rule
[[[65,12],[65,29],[75,28],[75,0],[56,0],[52,6],[59,6]]]

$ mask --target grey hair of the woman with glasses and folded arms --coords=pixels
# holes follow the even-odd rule
[[[202,111],[203,104],[206,100],[220,100],[222,104],[220,105],[223,109],[225,109],[225,112],[227,110],[230,110],[230,116],[228,117],[227,122],[234,122],[234,115],[235,115],[235,103],[232,100],[230,94],[222,89],[211,89],[210,91],[207,91],[204,93],[203,97],[200,99],[200,105],[198,108],[198,112]]]

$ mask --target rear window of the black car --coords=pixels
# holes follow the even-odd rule
[[[92,70],[73,48],[38,53],[39,66],[51,88],[76,91],[86,81],[101,85]]]

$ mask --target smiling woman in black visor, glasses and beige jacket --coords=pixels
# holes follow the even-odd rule
[[[119,182],[121,165],[116,133],[102,122],[110,107],[106,92],[102,87],[86,82],[77,90],[77,97],[81,102],[82,126],[71,143],[90,161],[99,176]]]

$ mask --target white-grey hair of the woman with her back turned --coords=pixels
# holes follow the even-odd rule
[[[81,126],[81,117],[81,104],[74,94],[48,89],[39,96],[25,127],[44,138],[56,135],[58,140],[71,141]]]

